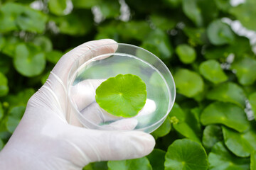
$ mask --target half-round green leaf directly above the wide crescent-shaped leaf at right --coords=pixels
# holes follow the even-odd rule
[[[206,98],[216,101],[234,103],[240,107],[245,107],[245,92],[240,86],[233,82],[227,82],[215,86],[208,92]]]

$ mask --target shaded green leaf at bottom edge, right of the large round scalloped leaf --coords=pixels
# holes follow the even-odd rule
[[[249,170],[250,159],[235,157],[225,148],[223,142],[214,145],[208,160],[210,170]]]

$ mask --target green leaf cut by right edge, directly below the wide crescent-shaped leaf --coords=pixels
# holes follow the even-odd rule
[[[223,126],[225,145],[238,157],[249,157],[256,150],[256,125],[245,132],[236,132]]]

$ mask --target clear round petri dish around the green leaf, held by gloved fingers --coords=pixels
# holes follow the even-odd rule
[[[102,81],[118,74],[134,74],[146,84],[147,100],[133,118],[110,115],[95,101],[95,91]],[[68,101],[85,128],[113,130],[117,121],[136,120],[133,130],[153,132],[164,123],[174,106],[174,78],[164,62],[151,52],[129,44],[95,47],[78,57],[68,76]]]

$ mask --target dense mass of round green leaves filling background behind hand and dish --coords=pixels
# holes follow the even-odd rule
[[[256,57],[223,20],[256,31],[255,9],[255,0],[1,0],[0,149],[65,52],[112,38],[165,62],[176,103],[149,156],[84,169],[255,169]]]

